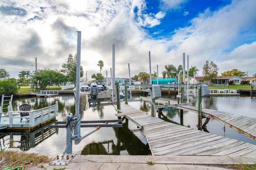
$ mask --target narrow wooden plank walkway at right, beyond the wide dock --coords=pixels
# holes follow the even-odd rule
[[[188,110],[194,113],[197,113],[198,110],[195,106],[178,106],[178,109]],[[202,115],[210,119],[215,119],[231,129],[256,140],[256,118],[204,108],[202,108]]]

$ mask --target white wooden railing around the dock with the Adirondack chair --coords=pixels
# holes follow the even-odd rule
[[[21,113],[21,112],[25,112],[25,113],[29,113],[28,116],[17,116],[14,115],[13,113]],[[14,119],[26,119],[26,123],[28,123],[29,121],[29,127],[34,127],[35,125],[38,125],[44,121],[47,121],[49,119],[51,119],[52,117],[56,117],[56,115],[58,114],[58,102],[56,101],[56,104],[52,105],[52,106],[48,106],[48,107],[44,107],[41,109],[37,109],[37,110],[32,110],[32,111],[8,111],[7,112],[8,116],[9,116],[9,122],[10,122],[10,127],[13,127]],[[38,120],[38,121],[36,121]],[[15,123],[16,124],[16,123]]]

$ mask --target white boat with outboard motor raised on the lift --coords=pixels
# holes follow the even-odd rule
[[[92,84],[84,84],[80,83],[80,104],[81,109],[86,110],[87,100],[88,102],[96,106],[96,103],[100,103],[103,101],[108,101],[112,98],[112,91],[113,88],[110,86],[105,85],[102,81],[97,81],[96,83]],[[76,96],[76,88],[73,89],[74,95]],[[85,108],[85,109],[84,109]]]

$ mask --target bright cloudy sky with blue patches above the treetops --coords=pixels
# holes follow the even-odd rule
[[[115,76],[150,72],[164,66],[199,69],[206,61],[220,68],[256,74],[256,0],[1,0],[0,68],[18,78],[22,70],[58,70],[77,52],[88,78],[110,77],[112,45]]]

